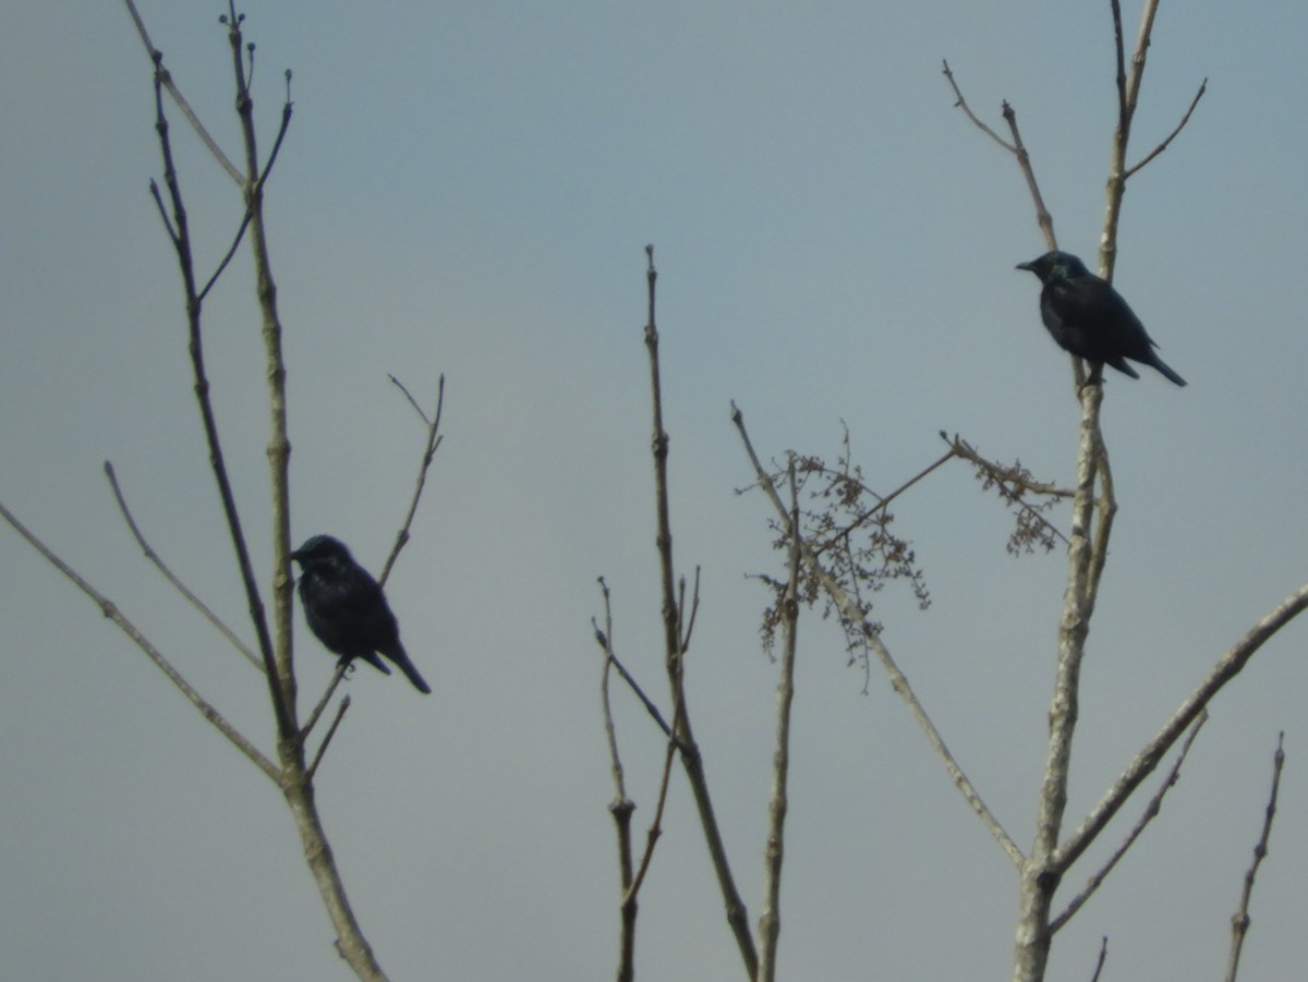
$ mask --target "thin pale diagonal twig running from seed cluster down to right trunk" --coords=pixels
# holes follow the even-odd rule
[[[736,430],[740,433],[740,441],[744,443],[746,452],[749,456],[749,463],[753,466],[755,475],[759,479],[759,485],[763,488],[768,499],[772,502],[773,509],[777,511],[782,520],[787,520],[787,510],[785,503],[781,501],[781,496],[777,493],[776,485],[772,477],[764,469],[763,463],[759,460],[759,455],[753,450],[753,443],[749,439],[749,434],[744,426],[744,415],[736,408],[735,403],[731,404],[731,421],[735,424]],[[927,741],[935,751],[937,756],[944,764],[944,769],[954,781],[954,786],[959,788],[963,799],[971,805],[972,811],[977,813],[981,822],[986,826],[990,834],[994,837],[995,842],[999,843],[1005,854],[1014,862],[1014,864],[1020,866],[1024,860],[1022,850],[1018,843],[1012,841],[1012,837],[1005,832],[999,820],[986,805],[985,800],[981,798],[980,792],[972,785],[972,781],[959,766],[950,748],[946,745],[944,739],[940,736],[939,730],[935,728],[935,723],[926,714],[922,703],[918,701],[917,694],[913,692],[913,686],[909,685],[908,677],[900,671],[900,667],[895,663],[891,656],[889,649],[880,639],[880,634],[876,629],[867,621],[862,608],[850,598],[850,595],[837,583],[831,574],[821,566],[818,556],[814,553],[812,547],[808,545],[803,539],[799,540],[799,548],[803,554],[804,562],[808,565],[812,574],[821,583],[823,590],[831,596],[832,601],[836,604],[836,609],[840,612],[841,617],[845,618],[848,624],[855,625],[862,635],[866,638],[867,645],[876,654],[880,660],[882,667],[891,679],[891,688],[899,694],[900,698],[909,707],[909,713],[913,719],[926,734]]]

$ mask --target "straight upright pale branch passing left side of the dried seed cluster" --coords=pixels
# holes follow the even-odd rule
[[[759,982],[777,977],[777,939],[781,935],[781,864],[785,858],[786,779],[790,773],[790,705],[795,696],[795,642],[799,626],[799,489],[795,462],[790,480],[790,577],[782,601],[781,679],[777,683],[777,749],[772,760],[772,800],[768,802],[768,845],[763,863],[763,915],[759,918]]]

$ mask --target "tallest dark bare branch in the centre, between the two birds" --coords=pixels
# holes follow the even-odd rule
[[[685,705],[685,690],[683,688],[683,656],[685,645],[681,637],[681,615],[678,603],[675,573],[672,566],[672,526],[668,518],[668,492],[667,492],[667,432],[663,429],[663,395],[659,382],[658,361],[658,327],[654,318],[654,285],[658,280],[658,271],[654,268],[654,246],[645,247],[647,256],[646,281],[649,284],[649,322],[645,326],[645,348],[650,358],[650,383],[653,388],[654,413],[654,497],[658,514],[658,532],[655,544],[659,554],[659,574],[663,592],[663,641],[664,660],[667,666],[668,684],[672,689],[674,715],[672,739],[678,743],[681,756],[681,768],[691,782],[691,792],[695,796],[695,807],[700,813],[700,825],[704,829],[704,838],[709,847],[709,856],[713,870],[718,877],[718,887],[722,890],[722,900],[726,905],[727,924],[735,935],[740,957],[744,961],[746,973],[752,979],[759,968],[759,956],[755,951],[753,938],[749,934],[749,921],[746,913],[744,901],[736,889],[735,879],[731,875],[731,866],[727,862],[726,846],[722,842],[722,832],[713,811],[713,799],[709,795],[708,779],[704,774],[704,758],[700,748],[695,743],[695,734],[691,728],[691,714]]]

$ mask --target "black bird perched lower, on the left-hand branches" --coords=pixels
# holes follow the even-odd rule
[[[399,666],[415,689],[432,692],[400,643],[400,626],[382,588],[354,562],[343,541],[315,535],[290,558],[303,570],[300,601],[305,605],[305,620],[328,651],[340,655],[341,662],[362,658],[390,675],[391,669],[377,656],[381,652]]]

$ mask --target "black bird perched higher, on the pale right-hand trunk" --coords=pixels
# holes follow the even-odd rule
[[[1158,345],[1144,333],[1144,324],[1113,289],[1095,276],[1071,252],[1045,252],[1040,259],[1019,263],[1040,277],[1040,316],[1058,347],[1093,362],[1087,384],[1097,383],[1104,365],[1112,365],[1131,378],[1139,378],[1126,358],[1152,365],[1179,386],[1185,379],[1172,371],[1154,350]]]

